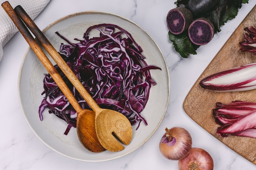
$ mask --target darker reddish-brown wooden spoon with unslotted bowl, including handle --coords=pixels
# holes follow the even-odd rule
[[[46,57],[43,50],[36,43],[36,40],[29,33],[25,25],[22,23],[20,18],[16,16],[15,11],[13,11],[12,7],[9,3],[4,2],[2,4],[4,10],[7,11],[8,15],[10,15],[11,19],[15,24],[18,24],[17,27],[20,29],[20,32],[27,40],[29,46],[31,46],[32,50],[36,53],[40,61],[45,66],[46,70],[52,76],[58,87],[61,89],[63,94],[69,100],[70,104],[74,107],[77,112],[76,119],[76,130],[79,140],[83,146],[94,153],[100,153],[106,150],[101,146],[99,139],[97,137],[96,129],[95,129],[95,113],[92,110],[82,109],[77,102],[76,98],[67,87],[66,83],[61,78],[60,74],[58,74],[57,70],[54,68],[52,63]]]

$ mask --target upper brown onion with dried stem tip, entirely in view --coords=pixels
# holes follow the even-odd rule
[[[159,142],[159,150],[166,159],[179,160],[189,154],[192,148],[192,137],[186,129],[182,127],[173,127],[171,129],[166,128],[166,133],[163,135]],[[176,142],[173,142],[173,146],[167,146],[163,143],[163,138],[168,135],[168,140],[172,140],[171,137],[175,137]]]

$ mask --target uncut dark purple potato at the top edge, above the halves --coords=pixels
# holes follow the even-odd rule
[[[220,0],[189,0],[186,7],[193,13],[193,15],[198,15],[209,11],[219,1]]]

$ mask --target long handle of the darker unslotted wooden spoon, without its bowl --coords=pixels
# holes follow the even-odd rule
[[[77,102],[76,98],[73,96],[70,89],[67,87],[66,83],[61,78],[60,74],[58,74],[57,70],[52,65],[51,61],[47,58],[43,50],[40,48],[40,46],[37,44],[34,37],[29,33],[27,27],[24,25],[24,23],[20,20],[20,18],[15,13],[14,9],[11,7],[11,4],[9,2],[3,2],[2,7],[4,11],[9,15],[13,23],[17,26],[20,33],[23,35],[23,37],[26,39],[27,43],[31,47],[31,49],[35,52],[38,59],[43,63],[46,70],[49,72],[49,74],[52,76],[58,87],[61,89],[63,94],[66,96],[67,100],[71,103],[71,105],[74,107],[76,112],[80,112],[82,108],[80,107],[79,103]]]

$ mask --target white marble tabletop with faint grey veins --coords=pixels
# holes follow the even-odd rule
[[[60,17],[79,11],[106,11],[124,16],[144,28],[161,48],[170,71],[171,98],[159,129],[139,149],[106,162],[76,161],[48,148],[34,135],[23,117],[18,100],[18,73],[28,44],[17,33],[4,47],[0,62],[0,169],[1,170],[176,170],[177,161],[165,159],[158,144],[165,127],[182,126],[193,138],[193,147],[204,148],[214,160],[215,170],[253,170],[256,166],[193,122],[182,108],[183,101],[198,76],[207,67],[238,24],[254,7],[249,0],[238,16],[222,26],[213,40],[200,47],[197,55],[182,59],[168,40],[166,14],[175,0],[51,0],[35,19],[40,29]]]

